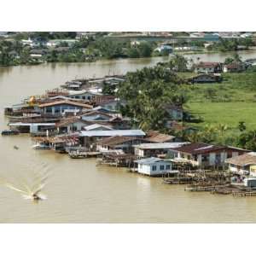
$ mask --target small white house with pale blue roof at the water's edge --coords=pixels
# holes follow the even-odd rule
[[[167,172],[172,172],[172,162],[160,158],[146,158],[135,161],[137,163],[137,172],[148,176],[159,176]],[[175,173],[177,171],[173,171]]]

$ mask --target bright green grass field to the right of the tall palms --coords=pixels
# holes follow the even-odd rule
[[[256,129],[256,73],[224,74],[219,84],[191,84],[187,110],[204,122],[195,124],[228,125],[236,128],[240,121],[247,129]]]

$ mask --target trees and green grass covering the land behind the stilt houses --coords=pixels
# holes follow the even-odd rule
[[[183,63],[179,56],[165,65],[127,73],[118,90],[119,98],[126,102],[121,112],[145,131],[255,150],[256,73],[224,73],[222,83],[189,84],[188,78],[195,73],[176,73],[178,63]],[[193,132],[166,128],[170,119],[166,106],[170,104],[183,106],[183,125],[193,127]]]

